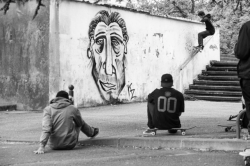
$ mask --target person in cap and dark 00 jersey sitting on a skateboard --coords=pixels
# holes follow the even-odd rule
[[[176,133],[181,123],[179,117],[184,112],[184,97],[172,88],[173,78],[170,74],[161,77],[161,89],[155,89],[148,95],[148,127],[143,134],[151,134],[156,129],[169,130]]]

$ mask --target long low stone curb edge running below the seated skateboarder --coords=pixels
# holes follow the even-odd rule
[[[242,151],[250,147],[249,140],[240,139],[201,139],[201,138],[95,138],[80,140],[82,144],[109,145],[116,147],[133,146],[142,148],[188,148],[202,150],[223,150],[223,151]]]

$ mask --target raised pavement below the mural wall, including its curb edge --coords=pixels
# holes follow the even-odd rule
[[[80,109],[83,119],[100,128],[100,134],[89,139],[80,134],[81,144],[134,146],[145,148],[192,148],[203,150],[242,150],[250,141],[236,139],[236,132],[225,132],[218,124],[241,110],[241,103],[185,101],[182,126],[197,126],[182,136],[158,131],[155,137],[142,137],[147,128],[146,103],[109,105]],[[0,111],[0,141],[35,142],[41,133],[41,111]]]

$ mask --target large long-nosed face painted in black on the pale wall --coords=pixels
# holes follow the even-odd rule
[[[92,76],[105,101],[117,99],[125,86],[128,34],[125,21],[117,12],[98,12],[89,25],[87,55]]]

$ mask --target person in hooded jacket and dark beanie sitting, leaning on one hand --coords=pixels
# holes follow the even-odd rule
[[[40,147],[34,153],[44,153],[47,142],[53,150],[73,149],[80,131],[88,137],[95,137],[99,133],[98,128],[90,127],[84,122],[80,111],[71,104],[69,94],[59,91],[43,111]]]

